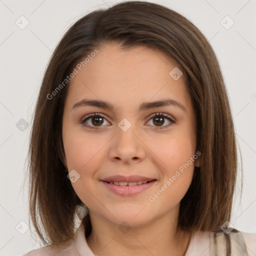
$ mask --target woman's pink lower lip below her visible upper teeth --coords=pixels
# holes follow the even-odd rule
[[[119,195],[133,195],[133,194],[138,194],[145,189],[149,188],[152,186],[156,180],[149,181],[147,183],[142,183],[139,185],[134,185],[134,186],[121,186],[121,185],[115,185],[115,184],[109,184],[106,181],[100,180],[110,191],[119,194]]]

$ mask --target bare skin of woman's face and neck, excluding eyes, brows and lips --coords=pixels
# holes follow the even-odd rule
[[[106,44],[72,78],[65,98],[62,139],[63,161],[68,171],[80,177],[71,183],[81,201],[89,208],[92,232],[87,243],[93,253],[104,255],[184,255],[190,233],[177,226],[180,200],[185,195],[199,157],[157,198],[148,197],[196,152],[196,116],[186,89],[184,74],[174,80],[169,72],[177,64],[158,50],[136,46],[120,49]],[[72,109],[81,99],[111,102],[115,110],[95,106]],[[171,98],[177,106],[155,107],[138,112],[141,102]],[[97,129],[81,120],[97,112],[103,115]],[[159,129],[153,113],[168,119]],[[123,131],[118,123],[126,118],[131,127]],[[94,127],[93,118],[85,124]],[[138,174],[157,179],[137,195],[122,196],[108,190],[99,180],[121,174]],[[126,221],[126,233],[118,226]]]

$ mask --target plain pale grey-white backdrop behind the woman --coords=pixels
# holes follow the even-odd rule
[[[117,2],[0,0],[0,256],[22,255],[40,247],[35,232],[26,231],[27,190],[21,184],[32,114],[51,53],[64,32],[81,16]],[[237,189],[231,223],[241,231],[256,233],[256,0],[153,2],[170,7],[192,21],[217,55],[244,169],[241,203]],[[230,26],[232,20],[234,24]],[[29,23],[22,27],[25,22]],[[239,167],[238,184],[240,177]]]

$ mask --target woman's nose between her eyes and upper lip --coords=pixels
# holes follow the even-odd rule
[[[145,144],[141,133],[131,125],[127,130],[116,128],[116,134],[111,140],[109,158],[123,163],[139,162],[145,158]]]

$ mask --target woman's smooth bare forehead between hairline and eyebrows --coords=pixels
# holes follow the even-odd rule
[[[189,95],[184,75],[174,80],[170,75],[174,68],[178,68],[176,62],[156,49],[104,45],[71,79],[67,101],[71,104],[85,97],[128,106],[175,97],[185,104]]]

